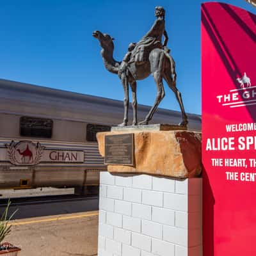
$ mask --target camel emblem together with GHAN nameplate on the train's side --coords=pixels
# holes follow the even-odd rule
[[[35,165],[39,163],[83,163],[83,150],[46,149],[39,142],[19,141],[5,145],[0,150],[0,161],[6,160],[15,165]],[[2,153],[1,153],[2,152]]]

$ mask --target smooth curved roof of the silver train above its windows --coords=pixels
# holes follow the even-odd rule
[[[0,113],[113,125],[122,122],[123,106],[121,100],[0,79]],[[138,105],[139,120],[147,115],[149,109],[149,106]],[[131,108],[129,109],[129,116],[131,120]],[[199,130],[201,116],[188,114],[188,117],[189,127]],[[177,124],[180,120],[179,111],[159,108],[150,124]]]

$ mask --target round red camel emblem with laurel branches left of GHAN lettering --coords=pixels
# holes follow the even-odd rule
[[[35,145],[31,141],[20,141],[16,144],[12,141],[10,145],[6,144],[6,148],[12,164],[34,165],[39,163],[45,147],[42,147],[40,143]]]

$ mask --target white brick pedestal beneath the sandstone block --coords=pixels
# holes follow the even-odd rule
[[[100,173],[98,256],[202,256],[202,179]]]

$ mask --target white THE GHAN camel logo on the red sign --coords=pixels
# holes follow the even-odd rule
[[[237,77],[236,81],[241,88],[216,96],[218,102],[222,106],[228,106],[229,108],[256,105],[256,85],[252,86],[250,77],[244,72],[243,77]]]

